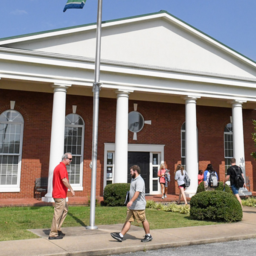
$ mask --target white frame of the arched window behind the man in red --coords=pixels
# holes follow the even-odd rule
[[[79,115],[79,114],[76,114],[76,113],[70,113],[70,114],[73,114],[73,115],[77,115],[81,118],[81,120],[83,121],[84,123],[84,119]],[[70,115],[68,114],[68,115]],[[68,116],[66,115],[65,118]],[[66,125],[65,124],[65,128],[66,127],[81,127],[82,128],[82,137],[81,137],[81,162],[80,162],[80,177],[79,177],[79,184],[73,184],[73,183],[70,183],[70,185],[72,186],[73,190],[74,191],[83,191],[83,167],[84,167],[84,125]],[[65,150],[64,150],[65,151]],[[66,152],[64,152],[66,153]],[[77,156],[76,154],[73,154],[73,157],[74,156]],[[80,155],[79,155],[80,156]],[[72,162],[71,162],[71,165],[72,165]]]

